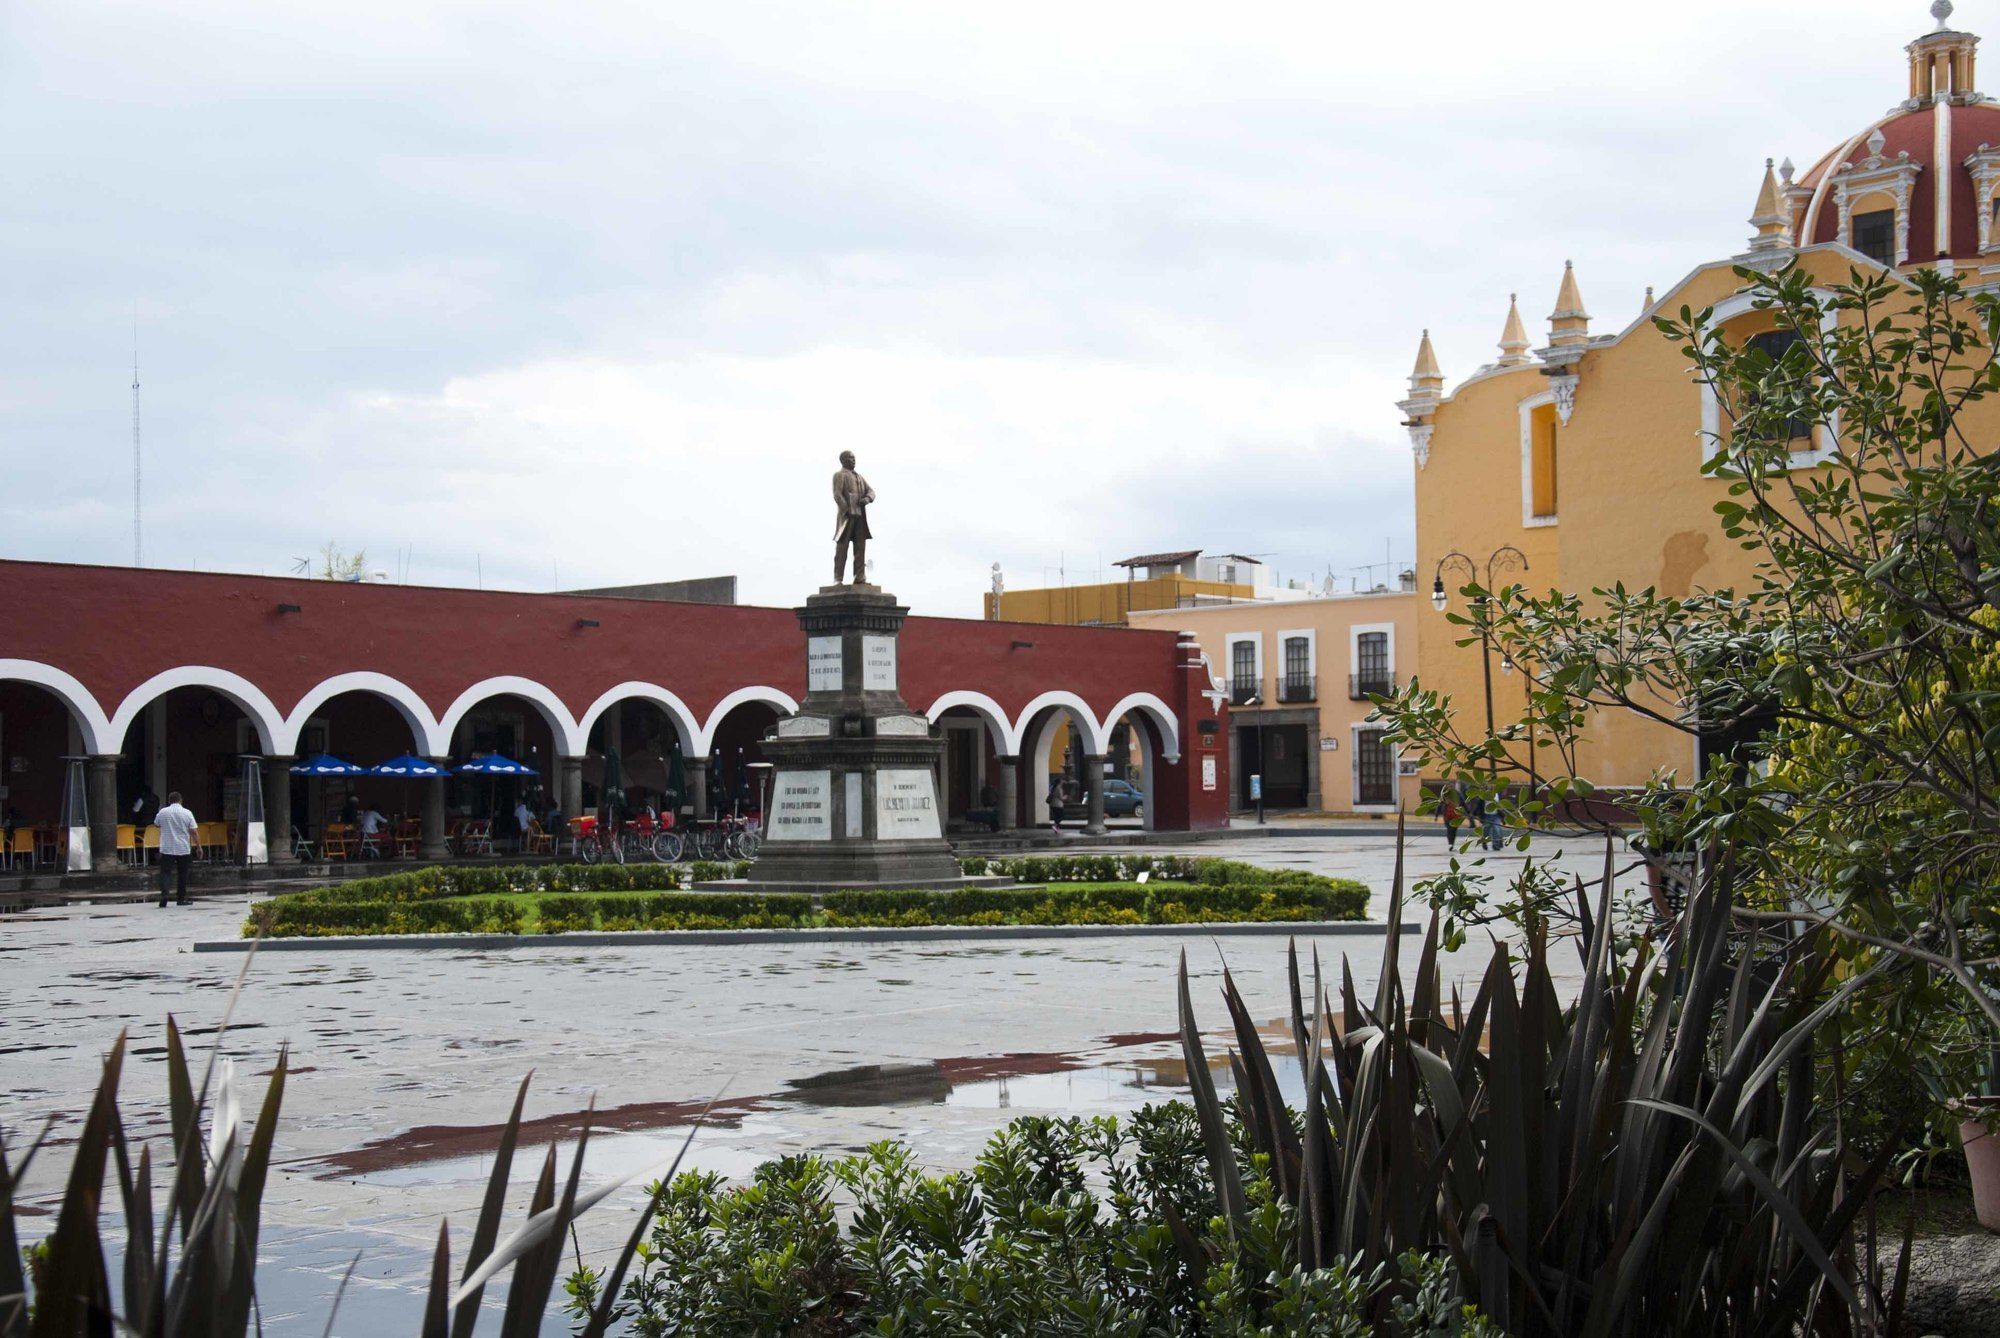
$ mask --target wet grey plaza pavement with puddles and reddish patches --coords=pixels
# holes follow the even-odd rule
[[[1190,846],[1266,866],[1366,880],[1384,914],[1394,838],[1270,836]],[[1540,842],[1582,876],[1602,844]],[[1500,866],[1518,856],[1496,858]],[[1434,832],[1412,874],[1444,866]],[[246,898],[192,908],[106,906],[0,918],[0,1128],[14,1146],[56,1116],[82,1116],[98,1060],[130,1028],[124,1096],[134,1138],[164,1144],[164,1016],[212,1044],[236,954],[194,954],[224,938]],[[1414,916],[1412,916],[1414,918]],[[1372,988],[1380,942],[1304,936],[1328,980],[1342,952]],[[1414,962],[1416,936],[1402,944]],[[1286,1008],[1284,940],[1168,938],[1002,944],[752,944],[482,952],[266,954],[226,1036],[244,1076],[290,1044],[276,1168],[264,1206],[264,1302],[274,1334],[320,1332],[326,1302],[360,1252],[336,1332],[406,1328],[436,1222],[464,1240],[478,1210],[496,1126],[534,1070],[516,1204],[542,1146],[568,1150],[594,1104],[586,1182],[642,1170],[696,1132],[690,1164],[740,1176],[782,1152],[848,1152],[904,1138],[934,1168],[962,1168],[1016,1114],[1116,1114],[1182,1096],[1172,1040],[1174,966],[1186,950],[1194,1000],[1224,1024],[1222,954],[1256,1016]],[[1444,962],[1476,980],[1488,950]],[[1574,952],[1554,954],[1574,990]],[[262,1098],[252,1078],[246,1106]],[[158,1148],[156,1148],[158,1150]],[[66,1158],[34,1168],[26,1198],[50,1202]],[[630,1228],[638,1188],[600,1206],[586,1252]],[[564,1332],[552,1324],[548,1332]]]

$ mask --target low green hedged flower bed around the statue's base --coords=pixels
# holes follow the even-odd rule
[[[742,866],[426,868],[274,896],[244,936],[576,934],[586,930],[902,928],[932,924],[1226,924],[1360,920],[1352,878],[1184,856],[964,860],[1048,886],[944,892],[682,892]],[[1144,880],[1142,880],[1144,878]]]

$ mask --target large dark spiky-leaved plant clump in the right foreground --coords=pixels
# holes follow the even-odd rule
[[[1518,960],[1494,944],[1470,1004],[1456,988],[1446,998],[1436,916],[1406,986],[1398,856],[1372,1000],[1344,970],[1336,1014],[1314,960],[1308,1004],[1292,952],[1302,1122],[1224,972],[1238,1114],[1292,1208],[1304,1266],[1444,1250],[1466,1298],[1530,1336],[1894,1324],[1872,1220],[1868,1264],[1852,1258],[1890,1152],[1854,1166],[1838,1120],[1814,1106],[1814,1036],[1862,978],[1836,982],[1812,936],[1740,932],[1730,860],[1710,854],[1662,942],[1620,956],[1606,848],[1594,906],[1576,886],[1584,984],[1568,1006],[1538,932]],[[1248,1230],[1186,960],[1180,1028],[1218,1212]]]

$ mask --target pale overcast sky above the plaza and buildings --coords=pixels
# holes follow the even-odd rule
[[[1980,32],[2000,4],[1960,4]],[[1918,0],[8,0],[0,556],[420,584],[1412,546],[1394,400],[1594,330],[1906,90]]]

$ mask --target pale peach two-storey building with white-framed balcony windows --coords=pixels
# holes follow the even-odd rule
[[[1368,696],[1416,670],[1414,588],[1212,608],[1134,610],[1134,628],[1190,632],[1230,698],[1230,808],[1392,814],[1416,808]]]

